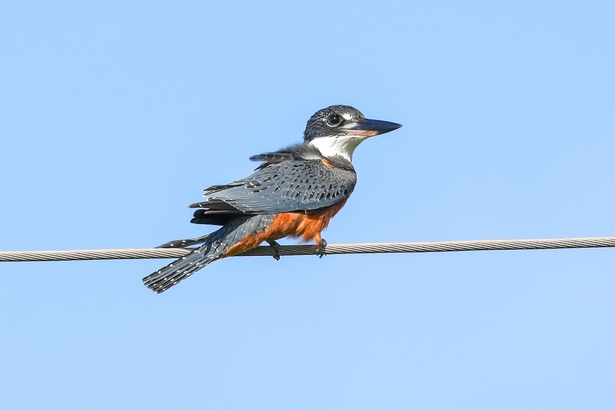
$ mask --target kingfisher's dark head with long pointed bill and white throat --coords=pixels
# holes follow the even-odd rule
[[[303,140],[319,149],[325,157],[352,160],[352,153],[363,141],[397,130],[401,124],[370,120],[349,105],[332,105],[317,111],[306,125]]]

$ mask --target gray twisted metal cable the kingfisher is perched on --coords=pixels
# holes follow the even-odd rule
[[[557,239],[502,239],[502,240],[453,240],[445,242],[379,242],[337,243],[327,245],[326,254],[354,253],[415,253],[453,251],[530,250],[565,248],[615,247],[615,237],[557,238]],[[135,248],[94,249],[69,251],[0,251],[0,262],[36,261],[88,261],[96,259],[165,259],[181,258],[193,248]],[[236,256],[296,256],[313,255],[314,245],[258,246]]]

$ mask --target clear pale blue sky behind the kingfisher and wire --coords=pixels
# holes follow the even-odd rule
[[[351,104],[330,243],[615,235],[613,2],[4,2],[0,250],[193,237]],[[615,250],[2,263],[7,409],[610,409]]]

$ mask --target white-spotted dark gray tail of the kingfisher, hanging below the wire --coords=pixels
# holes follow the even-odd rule
[[[185,247],[203,243],[191,253],[182,256],[153,274],[143,278],[143,284],[156,293],[175,286],[197,270],[219,259],[247,235],[255,234],[268,226],[269,215],[254,215],[236,218],[218,231],[195,239],[167,242],[161,247]],[[185,242],[184,242],[185,241]]]

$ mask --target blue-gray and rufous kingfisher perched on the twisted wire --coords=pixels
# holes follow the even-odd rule
[[[193,203],[192,223],[220,225],[218,231],[175,240],[161,248],[199,245],[183,258],[157,270],[143,282],[156,293],[194,274],[216,259],[253,249],[262,242],[277,248],[277,239],[316,242],[322,257],[327,242],[320,232],[344,206],[357,183],[352,153],[363,141],[400,124],[366,119],[356,108],[332,105],[317,111],[306,125],[303,143],[251,157],[260,161],[246,178],[205,189],[204,202]],[[274,256],[280,259],[279,255]]]

